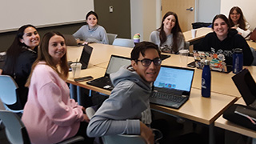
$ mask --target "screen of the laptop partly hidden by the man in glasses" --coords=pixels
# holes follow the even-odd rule
[[[124,65],[130,65],[130,58],[117,56],[117,55],[111,55],[109,65],[106,69],[105,76],[109,76],[111,73],[117,72],[120,67]]]

